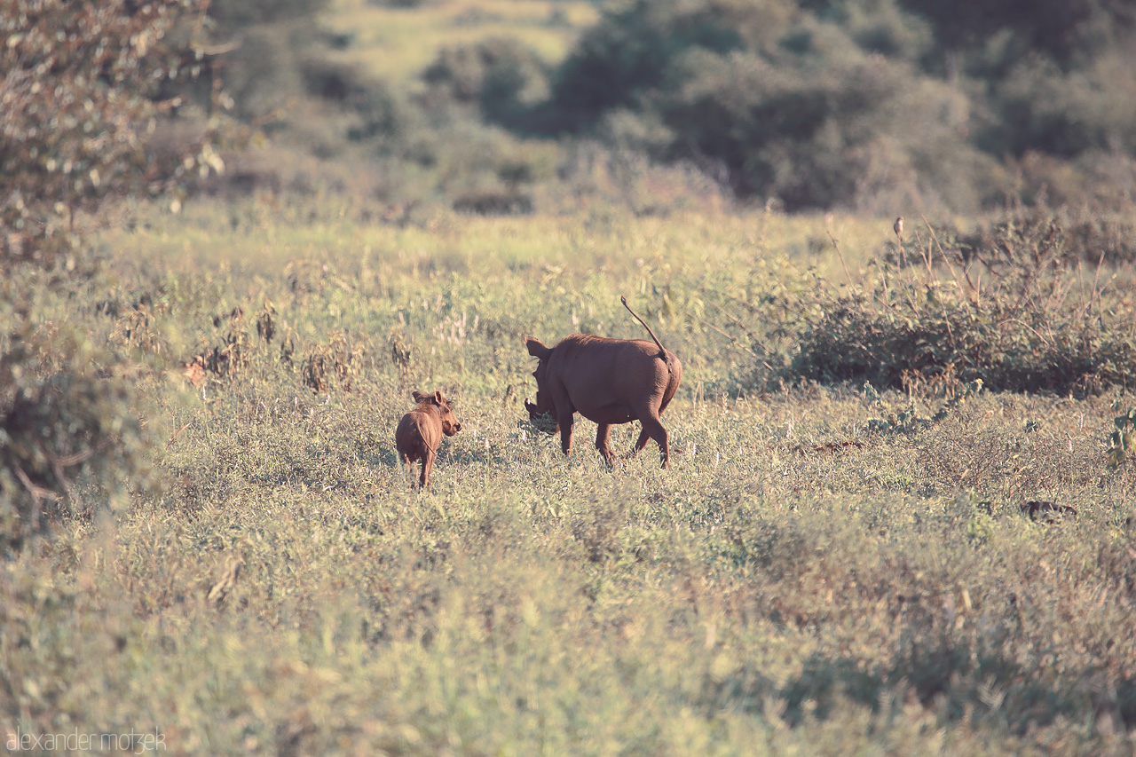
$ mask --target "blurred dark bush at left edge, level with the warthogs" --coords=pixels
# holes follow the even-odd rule
[[[131,373],[77,327],[24,321],[0,335],[0,547],[152,484],[152,414]]]

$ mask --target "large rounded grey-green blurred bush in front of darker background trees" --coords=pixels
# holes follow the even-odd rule
[[[791,210],[978,207],[975,172],[958,175],[960,161],[982,158],[958,133],[966,105],[955,92],[857,51],[835,28],[802,34],[799,55],[685,57],[658,99],[675,135],[665,156],[721,160],[737,192]]]

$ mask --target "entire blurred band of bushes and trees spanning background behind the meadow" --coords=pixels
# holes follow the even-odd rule
[[[443,193],[554,176],[532,140],[693,165],[790,210],[1114,207],[1136,189],[1125,0],[618,0],[559,64],[485,39],[440,50],[412,91],[329,63],[351,40],[310,23],[324,5],[214,3],[243,41],[226,86],[250,116],[273,97],[333,106],[334,133],[326,110],[309,122],[325,131],[292,127],[329,157],[433,169]]]

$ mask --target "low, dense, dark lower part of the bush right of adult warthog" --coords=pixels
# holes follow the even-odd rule
[[[803,334],[786,374],[896,389],[980,378],[993,391],[1059,394],[1133,382],[1127,327],[1076,314],[1022,318],[1010,297],[975,306],[934,291],[909,294],[922,301],[894,301],[887,313],[859,297],[834,302]]]

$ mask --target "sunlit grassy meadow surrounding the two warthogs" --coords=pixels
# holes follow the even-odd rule
[[[840,290],[821,218],[339,210],[148,209],[50,305],[145,366],[162,485],[3,564],[9,731],[211,755],[1136,746],[1134,473],[1105,460],[1127,397],[979,393],[902,433],[869,431],[887,408],[855,386],[743,391],[753,357],[707,327],[729,326],[710,293]],[[859,275],[889,225],[835,224]],[[670,471],[653,444],[605,469],[586,421],[566,459],[521,406],[521,335],[638,338],[623,292],[686,367]],[[231,373],[191,386],[231,334]],[[426,492],[394,454],[412,389],[463,424]],[[909,399],[944,402],[883,394]],[[1033,523],[1030,499],[1078,516]]]

